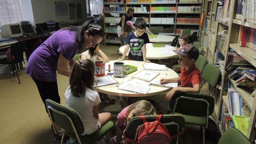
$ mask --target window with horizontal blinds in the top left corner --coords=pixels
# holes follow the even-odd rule
[[[19,0],[0,0],[0,26],[22,20],[23,15]]]

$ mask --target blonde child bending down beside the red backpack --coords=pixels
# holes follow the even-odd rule
[[[123,131],[128,125],[131,118],[139,115],[154,115],[157,114],[157,110],[150,102],[146,100],[140,100],[124,108],[117,116],[117,122],[115,124],[116,136],[111,138],[111,143],[120,143],[122,140]],[[126,140],[122,143],[127,143]]]

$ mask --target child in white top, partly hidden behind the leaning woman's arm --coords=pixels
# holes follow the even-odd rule
[[[81,61],[81,60],[85,60],[85,59],[89,59],[93,62],[95,62],[97,60],[109,62],[108,56],[106,56],[106,54],[104,54],[104,52],[102,52],[99,49],[99,47],[97,47],[96,49],[89,48],[87,51],[80,54],[79,60]]]

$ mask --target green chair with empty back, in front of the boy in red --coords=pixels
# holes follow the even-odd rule
[[[187,124],[202,128],[204,144],[208,116],[214,111],[214,98],[205,94],[178,92],[171,98],[169,106],[173,110],[172,114],[182,115]]]

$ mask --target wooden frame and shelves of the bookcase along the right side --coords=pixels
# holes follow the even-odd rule
[[[256,25],[248,22],[243,22],[242,20],[236,19],[236,13],[237,13],[237,1],[230,0],[230,6],[229,6],[229,19],[226,21],[215,21],[215,15],[217,15],[216,7],[218,0],[206,0],[205,1],[205,26],[202,29],[203,38],[202,38],[202,45],[204,50],[204,55],[207,57],[208,63],[216,63],[216,53],[220,52],[225,58],[224,58],[224,68],[223,72],[221,73],[221,90],[220,95],[216,99],[216,104],[214,108],[214,112],[217,116],[216,122],[220,119],[220,111],[222,109],[222,102],[226,105],[229,105],[228,100],[228,94],[225,91],[225,86],[227,86],[228,83],[232,83],[234,86],[234,89],[237,91],[237,93],[241,96],[241,99],[244,100],[248,108],[250,109],[250,119],[249,119],[249,126],[247,130],[247,134],[245,134],[251,143],[255,140],[256,136],[256,130],[255,130],[255,112],[256,112],[256,97],[251,96],[251,92],[244,88],[239,87],[235,83],[233,79],[230,79],[228,77],[228,70],[227,70],[227,59],[229,56],[229,52],[236,52],[238,55],[243,57],[246,61],[248,61],[251,65],[256,67],[256,51],[253,51],[252,49],[246,48],[246,47],[240,47],[239,45],[239,28],[240,26],[247,26],[249,28],[256,29]],[[217,44],[217,38],[212,37],[209,38],[209,35],[214,34],[218,35],[223,30],[227,31],[227,38],[226,38],[226,47],[224,46],[223,49],[218,49],[216,46]],[[210,44],[209,41],[212,41],[213,43]],[[230,108],[228,107],[228,112],[230,113]],[[222,131],[221,124],[218,123],[218,127]]]

